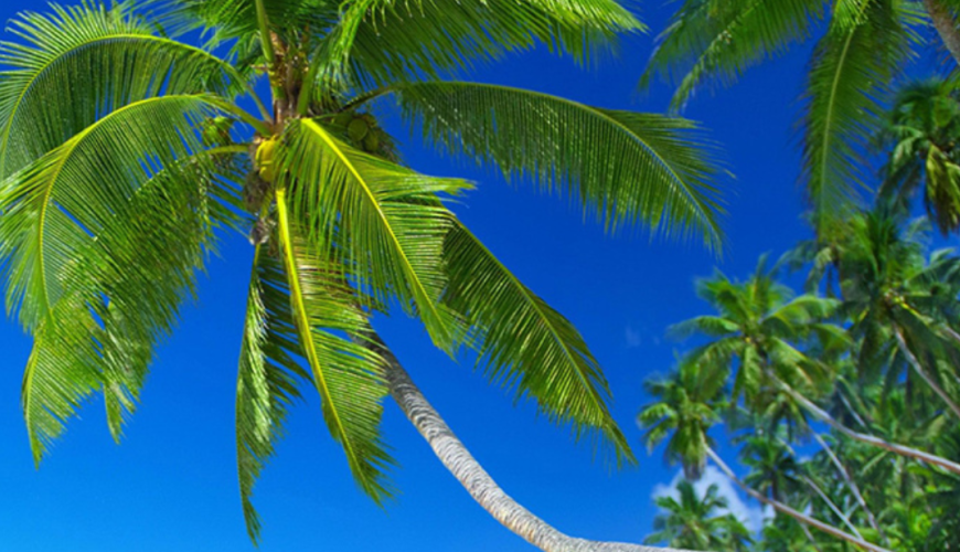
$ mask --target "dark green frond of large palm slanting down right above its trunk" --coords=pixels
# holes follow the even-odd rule
[[[618,463],[631,461],[627,439],[610,416],[610,391],[574,326],[534,295],[462,224],[445,246],[449,278],[445,305],[477,332],[474,344],[487,375],[533,397],[555,423],[574,435],[594,433]]]

